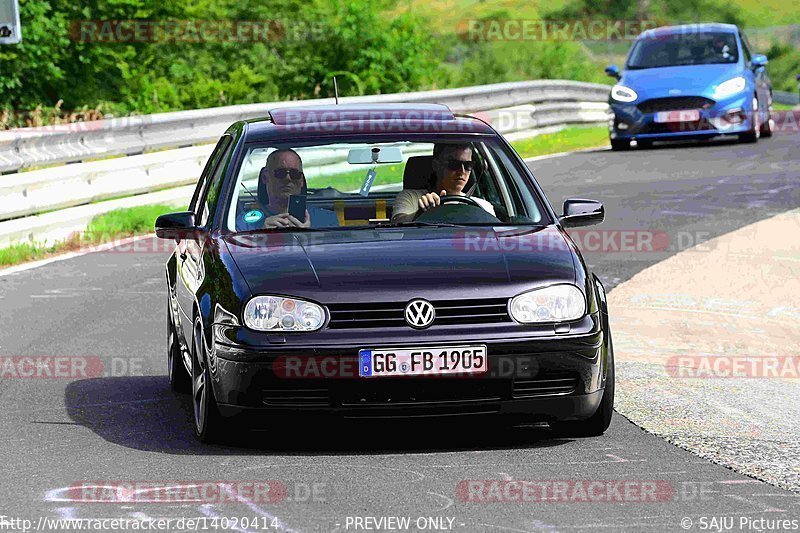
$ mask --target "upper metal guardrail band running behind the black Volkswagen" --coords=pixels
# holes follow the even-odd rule
[[[608,91],[607,85],[546,80],[345,97],[340,102],[428,102],[448,105],[456,112],[477,112],[536,102],[605,102]],[[0,172],[208,143],[233,122],[265,116],[276,107],[333,103],[332,98],[272,102],[2,131]]]

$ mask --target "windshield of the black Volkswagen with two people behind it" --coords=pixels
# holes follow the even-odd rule
[[[488,136],[248,144],[225,226],[243,232],[549,223],[518,164]]]

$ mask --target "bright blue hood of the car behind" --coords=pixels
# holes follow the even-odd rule
[[[625,70],[619,83],[636,91],[638,101],[668,96],[713,99],[717,85],[742,75],[738,65],[686,65]]]

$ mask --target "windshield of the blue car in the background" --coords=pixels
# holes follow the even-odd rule
[[[733,33],[675,33],[641,37],[633,45],[627,68],[709,65],[736,63],[738,60],[738,47]]]

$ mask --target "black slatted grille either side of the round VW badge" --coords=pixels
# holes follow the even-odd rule
[[[507,298],[432,301],[436,319],[432,326],[508,322]],[[405,302],[331,304],[332,329],[410,327],[405,320]]]

